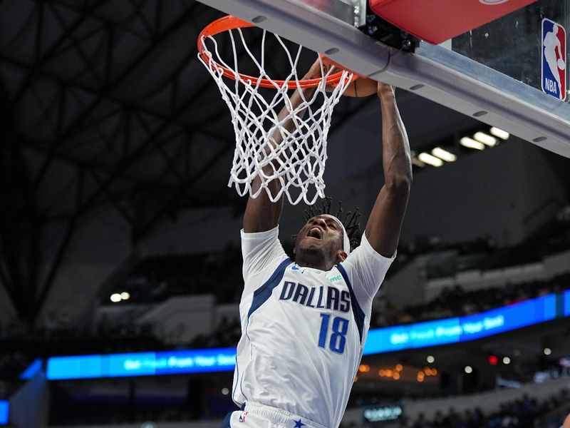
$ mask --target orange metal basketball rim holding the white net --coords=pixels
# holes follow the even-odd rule
[[[213,21],[211,24],[208,24],[207,26],[204,27],[204,29],[200,32],[199,36],[198,36],[198,53],[199,56],[202,57],[202,59],[204,60],[204,62],[209,63],[210,58],[209,56],[206,55],[205,53],[205,46],[204,46],[204,39],[208,36],[215,36],[216,34],[220,34],[224,31],[229,31],[229,30],[234,30],[234,29],[244,29],[244,28],[248,28],[248,27],[252,27],[255,26],[254,24],[250,24],[247,21],[244,21],[243,19],[239,19],[236,16],[232,16],[232,15],[227,15],[227,16],[223,16],[222,18],[216,19],[215,21]],[[325,56],[323,56],[323,58],[326,58]],[[327,61],[331,61],[330,59],[326,58]],[[338,66],[338,64],[334,61],[331,61],[331,63],[333,63],[333,65]],[[222,66],[221,64],[217,63],[216,61],[214,61],[212,59],[212,67],[216,67],[219,70],[222,71],[222,73],[224,74],[224,76],[228,77],[228,78],[232,78],[235,80],[236,78],[236,73],[235,71]],[[343,68],[343,70],[345,70],[345,68]],[[350,70],[347,70],[350,71]],[[350,71],[352,73],[352,71]],[[315,86],[318,86],[319,83],[321,83],[321,81],[323,80],[323,78],[310,78],[310,79],[299,79],[299,83],[297,83],[297,81],[282,81],[282,80],[274,80],[274,81],[270,81],[269,79],[266,78],[259,78],[259,77],[253,77],[253,76],[248,76],[247,74],[242,74],[242,73],[237,73],[239,75],[240,78],[242,78],[244,81],[250,81],[250,82],[256,82],[259,81],[259,86],[263,87],[263,88],[275,88],[276,86],[283,86],[284,84],[287,85],[287,87],[289,89],[295,89],[295,88],[313,88]],[[333,73],[331,74],[331,76],[328,76],[326,78],[326,84],[327,85],[332,85],[332,86],[336,86],[338,85],[338,82],[341,81],[341,78],[343,76],[343,71],[339,71],[338,73]],[[356,78],[358,78],[358,76],[356,74],[354,74],[353,76],[353,81],[356,80]]]

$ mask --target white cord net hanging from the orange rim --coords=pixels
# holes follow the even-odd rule
[[[202,38],[200,42],[205,58],[198,56],[219,86],[232,114],[236,150],[228,185],[234,186],[242,196],[249,193],[252,198],[257,198],[266,191],[274,202],[281,195],[286,195],[291,204],[304,200],[311,205],[317,198],[325,196],[323,173],[331,116],[353,75],[343,71],[340,81],[327,88],[326,78],[331,76],[331,70],[326,71],[319,57],[321,80],[314,91],[303,93],[296,69],[303,47],[296,45],[291,53],[279,36],[263,31],[261,49],[257,48],[257,54],[254,54],[248,48],[243,33],[242,29],[229,31],[234,55],[232,61],[224,61],[212,36]],[[269,38],[274,40],[271,41],[271,49],[268,48],[271,51],[266,52],[266,45],[269,46],[266,39]],[[279,46],[284,50],[281,54],[289,62],[284,72],[289,74],[276,81],[266,72],[266,59],[274,61],[274,50]],[[244,57],[252,66],[252,74],[259,77],[241,74],[238,59],[244,62]],[[232,72],[231,78],[224,76],[221,66]],[[268,82],[271,88],[264,89],[262,86],[267,86]],[[293,91],[299,91],[299,105],[289,98]],[[256,177],[260,178],[261,185],[254,190]],[[269,190],[269,183],[274,180],[279,181],[277,193]]]

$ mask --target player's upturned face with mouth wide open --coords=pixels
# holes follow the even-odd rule
[[[299,230],[295,251],[321,250],[323,253],[335,254],[342,249],[343,228],[338,221],[326,215],[317,215]]]

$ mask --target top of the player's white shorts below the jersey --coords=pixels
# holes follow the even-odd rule
[[[304,417],[247,402],[244,409],[231,412],[222,423],[222,428],[326,428]]]

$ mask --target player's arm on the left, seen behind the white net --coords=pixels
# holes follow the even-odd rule
[[[313,66],[309,69],[309,71],[305,75],[305,79],[307,78],[317,78],[321,77],[321,64],[320,61],[316,61]],[[301,104],[304,99],[310,98],[313,96],[315,88],[303,88],[303,93],[299,93],[299,90],[296,90],[291,98],[289,98],[289,106],[284,106],[278,116],[278,120],[283,120],[290,111],[296,109],[299,104]],[[299,115],[303,115],[304,111],[300,112]],[[294,118],[289,118],[289,121],[286,121],[282,128],[284,130],[277,129],[274,134],[271,136],[271,140],[274,141],[275,146],[279,146],[283,141],[283,132],[292,132],[296,123]],[[271,165],[268,165],[266,172],[271,172]],[[252,183],[253,192],[257,192],[259,190],[259,186],[261,185],[261,178],[256,177]],[[277,195],[279,190],[281,190],[281,183],[278,180],[271,180],[268,185],[269,191],[271,191],[271,195]],[[281,211],[283,210],[283,196],[276,202],[271,202],[269,195],[267,195],[266,191],[261,191],[257,198],[249,197],[247,200],[247,207],[244,213],[244,232],[245,233],[255,233],[255,232],[264,232],[265,230],[271,230],[276,227],[279,223],[279,218],[281,217]]]

